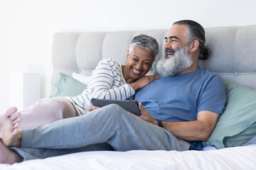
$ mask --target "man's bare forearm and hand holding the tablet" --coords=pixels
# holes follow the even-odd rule
[[[149,111],[139,103],[139,108],[142,115],[139,118],[146,120],[149,123],[157,125]],[[164,129],[171,132],[177,138],[188,141],[206,141],[213,132],[220,114],[212,111],[201,111],[197,115],[197,120],[189,122],[163,122]]]

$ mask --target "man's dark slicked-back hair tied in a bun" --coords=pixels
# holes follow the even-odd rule
[[[177,21],[173,24],[174,25],[184,25],[188,27],[188,40],[187,43],[191,43],[193,40],[198,40],[199,42],[199,49],[200,53],[198,56],[199,60],[206,60],[209,55],[208,47],[206,47],[206,33],[203,29],[203,26],[201,26],[196,21],[191,20],[181,20]]]

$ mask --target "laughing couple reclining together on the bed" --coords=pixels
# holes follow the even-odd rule
[[[166,55],[156,64],[161,77],[144,76],[159,47],[154,38],[139,35],[131,42],[127,64],[102,60],[80,96],[41,100],[21,113],[9,108],[0,118],[0,162],[92,150],[201,150],[201,141],[208,140],[224,110],[223,81],[218,74],[198,69],[198,60],[208,57],[199,23],[177,21],[165,40]],[[134,94],[141,116],[114,104],[90,106],[92,97],[125,99]],[[38,115],[41,123],[33,119]]]

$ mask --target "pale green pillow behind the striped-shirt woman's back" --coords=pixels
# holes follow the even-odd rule
[[[73,79],[64,73],[59,73],[55,82],[50,98],[63,96],[77,96],[85,90],[87,84],[82,84],[80,81]]]

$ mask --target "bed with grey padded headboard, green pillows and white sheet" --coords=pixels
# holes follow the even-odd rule
[[[50,97],[79,94],[102,58],[112,57],[124,64],[134,35],[151,35],[163,49],[167,31],[55,33]],[[256,169],[255,35],[256,26],[206,28],[210,57],[198,64],[223,77],[228,101],[210,139],[203,142],[203,151],[80,152],[0,164],[0,169]],[[163,54],[161,50],[156,61]]]

